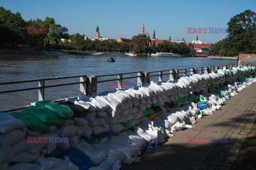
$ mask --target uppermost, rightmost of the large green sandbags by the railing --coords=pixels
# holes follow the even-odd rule
[[[73,111],[65,105],[59,105],[53,101],[50,100],[44,100],[44,101],[38,101],[35,103],[31,103],[31,106],[36,106],[36,107],[46,107],[53,112],[55,112],[59,117],[63,119],[71,119],[73,117]]]

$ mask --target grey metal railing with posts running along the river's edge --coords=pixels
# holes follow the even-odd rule
[[[253,66],[253,65],[255,65],[255,64],[241,64],[241,66]],[[125,72],[125,73],[119,73],[119,74],[99,75],[99,76],[90,76],[90,77],[87,77],[86,75],[82,75],[82,76],[70,76],[70,77],[59,77],[59,78],[23,80],[23,81],[17,81],[17,82],[5,82],[5,83],[0,83],[0,86],[1,85],[10,85],[10,84],[38,82],[38,87],[20,88],[20,89],[16,89],[16,90],[0,91],[0,94],[38,90],[38,101],[42,101],[42,100],[44,100],[44,96],[45,96],[45,94],[44,94],[45,88],[80,84],[79,91],[81,91],[82,93],[84,93],[86,95],[92,95],[94,93],[97,93],[97,84],[98,83],[117,81],[118,88],[122,89],[124,79],[137,78],[137,83],[142,84],[142,83],[150,83],[150,77],[158,77],[159,82],[162,82],[163,76],[169,75],[169,80],[172,81],[181,76],[193,75],[193,74],[197,74],[197,73],[198,74],[210,73],[211,71],[215,71],[215,70],[223,68],[223,67],[230,69],[231,67],[234,67],[234,66],[237,67],[238,65],[197,67],[197,68],[186,68],[186,69],[170,69],[170,70],[160,70],[160,71],[150,71],[150,72],[135,71],[135,72]],[[137,76],[124,77],[124,75],[135,74],[135,73],[137,73]],[[155,74],[155,73],[157,73],[157,74]],[[109,76],[117,76],[117,78],[98,80],[98,78],[100,78],[100,77],[109,77]],[[48,80],[70,79],[70,78],[78,78],[78,77],[80,78],[79,82],[62,83],[62,84],[55,84],[55,85],[45,85],[45,82]],[[55,101],[60,102],[63,100],[64,99],[55,100]],[[0,112],[11,112],[11,111],[16,111],[16,110],[21,110],[24,108],[26,108],[26,107],[9,109],[9,110],[4,110],[4,111],[0,111]]]

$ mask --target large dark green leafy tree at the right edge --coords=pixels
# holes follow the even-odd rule
[[[256,13],[246,10],[228,22],[226,38],[212,45],[211,54],[237,56],[239,53],[256,53]]]

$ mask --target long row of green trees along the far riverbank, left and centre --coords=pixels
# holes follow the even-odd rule
[[[47,34],[45,31],[47,30]],[[85,35],[66,34],[66,27],[56,23],[54,18],[30,19],[25,21],[19,12],[12,13],[0,7],[0,48],[19,49],[30,48],[33,50],[78,50],[78,51],[108,51],[108,52],[133,52],[155,53],[173,52],[188,54],[190,49],[183,43],[163,41],[156,45],[150,44],[146,35],[135,35],[130,43],[118,43],[115,40],[99,41],[84,39]],[[62,40],[62,41],[61,41]]]

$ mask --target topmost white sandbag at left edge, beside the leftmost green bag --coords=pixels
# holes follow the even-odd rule
[[[0,113],[0,134],[11,132],[14,129],[22,129],[27,125],[22,120],[12,117],[11,114]]]

